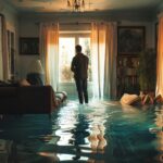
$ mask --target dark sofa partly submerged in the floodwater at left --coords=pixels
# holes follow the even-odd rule
[[[66,99],[51,86],[0,87],[0,114],[50,114]]]

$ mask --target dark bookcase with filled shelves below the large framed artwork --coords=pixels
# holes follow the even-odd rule
[[[117,97],[123,93],[138,93],[138,72],[139,58],[137,55],[117,57]]]

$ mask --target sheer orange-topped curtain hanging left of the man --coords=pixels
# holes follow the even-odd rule
[[[45,67],[46,84],[58,90],[59,84],[59,24],[40,24],[40,53]]]

